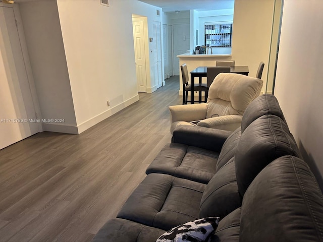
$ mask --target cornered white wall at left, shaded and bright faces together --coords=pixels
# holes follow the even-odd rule
[[[147,16],[151,37],[152,21],[163,24],[160,8],[132,0],[112,0],[110,7],[95,0],[20,3],[42,117],[65,119],[63,127],[44,130],[81,133],[139,100],[132,14]]]

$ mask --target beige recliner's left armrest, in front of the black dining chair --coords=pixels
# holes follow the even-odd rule
[[[170,106],[171,124],[176,121],[194,121],[206,117],[206,103]]]

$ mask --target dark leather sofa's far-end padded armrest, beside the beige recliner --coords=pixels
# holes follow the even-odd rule
[[[231,134],[226,130],[183,125],[174,130],[172,142],[220,152]]]

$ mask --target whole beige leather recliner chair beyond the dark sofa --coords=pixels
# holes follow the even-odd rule
[[[170,106],[171,133],[179,125],[234,131],[241,125],[242,114],[259,96],[262,80],[233,73],[220,73],[209,87],[206,103]]]

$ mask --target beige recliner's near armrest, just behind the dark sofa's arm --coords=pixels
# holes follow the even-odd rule
[[[241,126],[242,115],[225,115],[201,120],[197,126],[235,131]]]

